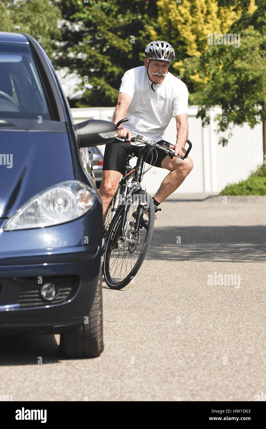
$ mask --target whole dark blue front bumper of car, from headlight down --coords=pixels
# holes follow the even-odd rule
[[[101,204],[93,211],[68,224],[35,230],[3,231],[6,221],[0,221],[0,250],[5,249],[0,251],[0,334],[58,333],[84,323],[101,266]],[[49,237],[55,247],[47,247]],[[45,282],[63,290],[64,300],[45,301],[40,294]]]

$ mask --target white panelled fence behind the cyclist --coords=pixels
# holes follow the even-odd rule
[[[71,111],[76,123],[86,119],[110,121],[114,108],[89,107]],[[243,127],[233,127],[233,136],[228,145],[222,147],[218,145],[221,134],[215,132],[214,121],[215,116],[220,113],[221,109],[215,107],[211,112],[210,124],[202,127],[201,119],[196,118],[197,106],[188,108],[188,138],[192,142],[190,157],[194,168],[175,193],[218,193],[228,183],[245,180],[252,170],[256,170],[257,166],[263,163],[262,124],[256,125],[252,130],[247,124]],[[164,133],[164,139],[173,144],[176,142],[174,116]],[[103,153],[104,147],[99,146]],[[167,170],[154,167],[144,175],[141,183],[149,193],[154,194],[167,174]]]

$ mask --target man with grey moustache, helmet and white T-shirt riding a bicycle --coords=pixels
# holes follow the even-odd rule
[[[127,116],[129,122],[127,127],[118,128],[117,139],[105,147],[103,176],[99,189],[104,219],[117,192],[129,151],[133,147],[134,153],[138,154],[140,150],[140,146],[134,147],[134,143],[130,143],[132,136],[141,134],[158,142],[163,139],[164,130],[174,114],[177,136],[176,144],[170,148],[174,149],[175,155],[185,155],[184,146],[188,138],[188,89],[180,79],[168,73],[174,57],[174,50],[169,43],[159,40],[151,42],[145,49],[144,66],[128,70],[122,78],[112,121],[117,124]],[[127,137],[127,141],[121,137]],[[148,146],[144,151],[144,160],[170,171],[153,196],[155,211],[158,211],[158,205],[173,193],[189,174],[193,162],[189,157],[185,160],[171,160],[162,149],[154,148],[150,151]],[[143,213],[142,223],[147,226],[148,211]]]

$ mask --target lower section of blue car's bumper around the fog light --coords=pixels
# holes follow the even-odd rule
[[[78,284],[76,284],[72,296],[66,302],[60,304],[47,302],[36,308],[30,305],[23,308],[18,303],[18,297],[21,296],[22,292],[19,284],[15,284],[14,292],[10,299],[8,288],[5,287],[5,290],[3,290],[3,286],[6,286],[10,278],[4,279],[2,277],[0,279],[0,283],[1,281],[3,283],[2,303],[0,305],[0,333],[15,333],[18,331],[56,333],[66,330],[66,328],[70,329],[73,326],[82,325],[84,317],[89,314],[93,304],[99,279],[100,262],[100,252],[97,251],[95,257],[90,261],[57,263],[56,266],[54,264],[47,264],[46,266],[36,264],[27,267],[13,266],[12,273],[15,279],[21,280],[25,276],[27,276],[27,279],[36,277],[37,284],[37,279],[40,277],[53,278],[56,282],[58,278],[63,278],[64,275],[75,275],[78,278]],[[6,274],[10,274],[8,269]],[[5,304],[3,304],[3,300]]]

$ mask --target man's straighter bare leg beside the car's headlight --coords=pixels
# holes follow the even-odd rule
[[[121,173],[114,170],[104,170],[102,173],[102,183],[99,189],[99,194],[102,197],[102,216],[105,220],[109,205],[114,198],[119,186]]]

